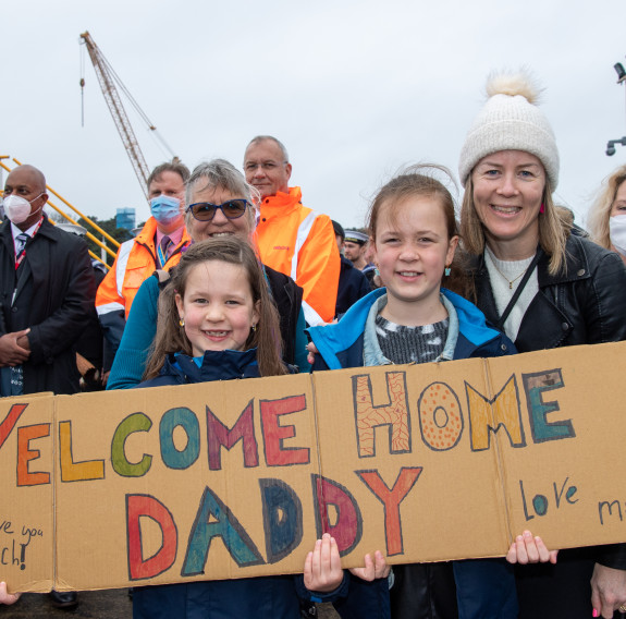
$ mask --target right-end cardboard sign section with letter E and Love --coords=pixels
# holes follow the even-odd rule
[[[611,343],[489,361],[520,392],[524,446],[502,459],[512,532],[552,548],[626,542],[625,354]]]

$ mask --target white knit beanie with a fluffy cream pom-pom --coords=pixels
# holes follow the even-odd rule
[[[554,191],[559,183],[559,150],[548,119],[535,105],[539,93],[525,71],[489,77],[489,99],[474,120],[461,150],[458,173],[464,186],[476,163],[487,155],[525,150],[543,163]]]

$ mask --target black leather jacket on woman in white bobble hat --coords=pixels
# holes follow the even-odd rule
[[[474,257],[470,264],[474,301],[496,324],[499,315],[483,257]],[[566,268],[560,275],[548,272],[545,255],[537,268],[539,292],[517,333],[519,352],[626,339],[626,268],[617,254],[572,235],[566,245]],[[626,544],[561,550],[555,566],[516,568],[519,617],[589,617],[589,580],[594,562],[626,570]],[[579,592],[578,597],[574,591]]]

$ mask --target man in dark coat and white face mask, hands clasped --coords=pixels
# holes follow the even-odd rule
[[[46,179],[33,166],[7,178],[0,226],[0,396],[78,391],[75,342],[95,316],[85,242],[44,214]],[[60,607],[75,593],[52,592]]]

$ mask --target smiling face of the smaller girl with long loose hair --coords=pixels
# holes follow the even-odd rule
[[[205,351],[244,350],[259,320],[258,302],[243,265],[206,260],[189,269],[176,307],[194,356]]]

